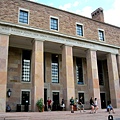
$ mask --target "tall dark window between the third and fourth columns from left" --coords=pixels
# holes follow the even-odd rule
[[[82,59],[76,58],[76,77],[78,84],[84,84],[83,82],[83,67],[82,67]]]

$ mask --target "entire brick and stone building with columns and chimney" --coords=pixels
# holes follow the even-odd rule
[[[100,108],[120,107],[120,28],[104,22],[103,9],[87,18],[28,0],[0,0],[0,111],[50,97],[91,97]],[[11,95],[7,93],[11,91]]]

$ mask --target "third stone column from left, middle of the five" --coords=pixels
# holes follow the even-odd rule
[[[63,96],[66,109],[70,110],[70,98],[75,98],[73,51],[71,46],[62,46]]]

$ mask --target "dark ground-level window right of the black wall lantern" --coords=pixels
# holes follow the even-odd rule
[[[21,98],[22,105],[30,104],[30,91],[22,91]]]

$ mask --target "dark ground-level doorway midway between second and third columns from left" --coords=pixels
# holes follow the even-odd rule
[[[60,110],[59,92],[53,92],[52,94],[53,94],[52,110],[53,111]]]

